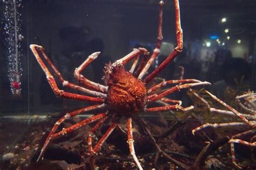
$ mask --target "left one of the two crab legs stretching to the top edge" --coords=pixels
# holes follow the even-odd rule
[[[140,72],[138,79],[142,79],[143,76],[146,74],[147,70],[149,70],[150,66],[152,65],[154,59],[158,56],[160,53],[160,47],[161,47],[161,42],[163,40],[163,32],[162,32],[162,27],[163,27],[163,6],[164,6],[164,1],[159,2],[160,5],[160,10],[159,10],[159,16],[158,16],[158,37],[157,37],[157,45],[156,48],[154,48],[154,51],[152,55],[150,56],[149,61],[147,61],[145,67],[142,69],[142,72]]]

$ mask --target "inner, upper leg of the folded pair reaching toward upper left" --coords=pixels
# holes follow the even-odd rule
[[[76,89],[76,90],[79,90],[79,91],[83,91],[84,93],[86,94],[89,94],[89,95],[92,95],[92,96],[96,96],[96,97],[102,97],[102,98],[106,98],[106,94],[103,94],[103,93],[100,93],[98,91],[93,91],[93,90],[90,90],[90,89],[86,89],[86,88],[83,88],[83,87],[80,87],[80,86],[77,86],[76,84],[73,84],[73,83],[70,83],[66,80],[64,80],[62,74],[60,74],[59,70],[55,67],[55,65],[53,65],[53,63],[51,62],[51,60],[49,59],[49,56],[46,54],[44,48],[42,46],[38,46],[38,45],[34,45],[34,44],[31,44],[30,45],[30,48],[33,52],[33,54],[36,56],[36,59],[37,61],[39,62],[39,64],[41,65],[41,67],[43,68],[44,70],[44,73],[46,74],[46,76],[52,76],[51,73],[49,72],[49,70],[45,70],[46,69],[46,66],[45,65],[42,65],[42,60],[40,60],[40,56],[38,54],[38,51],[37,49],[43,54],[44,56],[44,59],[49,63],[50,67],[53,69],[53,72],[55,73],[55,75],[58,77],[59,81],[62,83],[62,86],[63,87],[69,87],[71,89]]]

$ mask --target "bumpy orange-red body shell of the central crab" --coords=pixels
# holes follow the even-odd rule
[[[127,72],[124,66],[112,67],[108,86],[106,101],[112,111],[118,114],[134,114],[145,108],[145,84]]]

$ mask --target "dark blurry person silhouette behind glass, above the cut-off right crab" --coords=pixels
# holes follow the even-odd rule
[[[251,67],[245,59],[230,58],[221,66],[223,80],[212,84],[211,91],[221,100],[225,100],[227,88],[237,93],[248,91],[250,88]]]

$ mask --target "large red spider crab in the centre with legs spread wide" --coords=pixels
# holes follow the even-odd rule
[[[66,113],[65,116],[60,118],[52,130],[50,131],[48,138],[46,138],[41,153],[38,157],[38,160],[42,159],[46,148],[50,144],[53,139],[64,136],[67,133],[70,133],[86,124],[98,121],[98,123],[91,129],[89,132],[89,137],[87,138],[87,143],[89,146],[90,154],[97,154],[100,147],[103,145],[107,137],[110,136],[111,132],[118,126],[118,118],[125,116],[127,120],[127,143],[129,145],[130,154],[132,158],[136,162],[139,169],[142,169],[140,165],[136,153],[134,151],[133,146],[133,136],[132,136],[132,116],[138,115],[138,112],[154,112],[154,111],[162,111],[162,110],[183,110],[187,111],[193,109],[193,107],[183,108],[181,107],[181,101],[170,100],[166,98],[166,95],[173,93],[174,91],[179,91],[180,89],[191,88],[199,85],[210,85],[208,82],[201,82],[194,79],[187,80],[169,80],[163,81],[156,86],[153,86],[149,89],[146,88],[146,84],[149,83],[154,77],[158,75],[158,73],[163,70],[168,63],[170,63],[176,56],[182,51],[183,48],[183,31],[181,30],[180,25],[180,10],[179,10],[179,1],[174,0],[175,5],[175,13],[176,13],[176,37],[177,37],[177,47],[174,48],[173,52],[167,56],[167,58],[157,67],[151,74],[143,78],[147,73],[147,70],[152,65],[154,59],[160,53],[161,41],[163,39],[162,36],[162,23],[163,23],[163,5],[164,2],[160,1],[160,10],[159,10],[159,23],[158,23],[158,37],[156,48],[154,49],[152,55],[149,59],[147,56],[149,52],[145,48],[133,49],[130,54],[127,54],[123,58],[117,60],[114,63],[107,64],[105,66],[105,76],[103,77],[105,84],[99,84],[92,82],[86,79],[82,74],[82,70],[88,66],[93,60],[95,60],[100,52],[92,53],[78,68],[75,69],[75,77],[81,86],[70,83],[66,81],[63,76],[59,73],[58,69],[53,65],[50,61],[48,55],[46,54],[44,48],[38,45],[30,45],[32,53],[35,55],[39,65],[42,67],[46,79],[48,80],[53,92],[57,96],[62,96],[65,98],[72,98],[80,101],[98,103],[96,105],[91,105],[90,107],[82,108],[79,110],[75,110],[72,112]],[[143,54],[142,59],[140,59],[140,63],[137,66],[139,61],[139,56]],[[64,87],[69,87],[71,89],[79,90],[82,93],[88,94],[90,96],[68,93],[64,90],[60,90],[57,86],[55,78],[50,73],[50,70],[46,67],[44,61],[41,59],[43,56],[44,60],[48,63],[48,65],[53,70],[53,73],[57,76],[60,82]],[[134,59],[133,65],[130,71],[126,71],[124,66],[127,62]],[[136,72],[134,70],[137,68]],[[155,90],[166,86],[167,84],[172,83],[185,83],[179,84],[175,87],[169,88],[159,94],[153,93]],[[163,107],[153,107],[147,108],[147,105],[152,102],[165,102],[168,103]],[[83,121],[70,126],[69,128],[63,129],[62,131],[56,132],[58,126],[65,121],[65,119],[72,118],[78,114],[82,114],[87,111],[105,108],[105,112],[99,113],[95,116],[91,116],[89,118],[84,119]],[[99,139],[98,143],[95,147],[92,147],[92,137],[93,133],[97,131],[100,125],[109,118],[112,121],[109,129],[105,132],[101,139]],[[145,124],[144,124],[145,125]],[[148,130],[148,129],[147,129]],[[147,133],[150,134],[149,131]],[[152,135],[150,134],[153,139]],[[154,139],[153,139],[154,140]],[[154,140],[155,141],[155,140]],[[161,151],[157,146],[158,151]],[[163,151],[161,151],[163,153]],[[176,162],[173,159],[174,162]],[[177,163],[177,162],[176,162]]]

